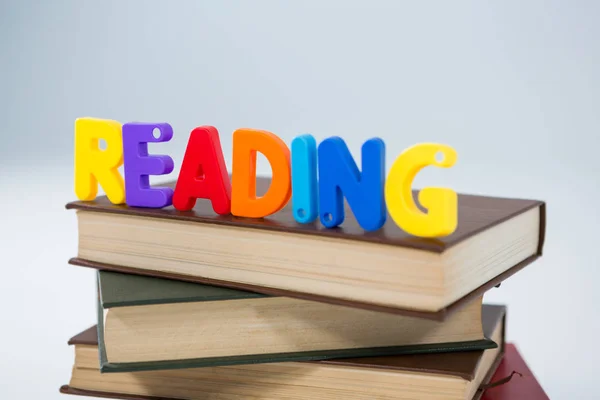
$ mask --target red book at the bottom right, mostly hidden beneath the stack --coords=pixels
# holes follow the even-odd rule
[[[513,374],[513,371],[515,372]],[[511,376],[510,381],[488,388],[481,400],[548,400],[549,397],[519,354],[514,344],[507,343],[504,357],[491,383]]]

